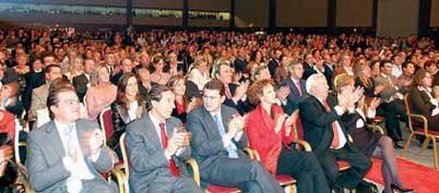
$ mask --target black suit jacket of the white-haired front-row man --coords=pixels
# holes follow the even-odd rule
[[[332,132],[332,122],[337,121],[345,134],[340,116],[333,109],[333,102],[328,101],[331,107],[331,112],[327,112],[323,105],[315,96],[308,96],[299,104],[299,114],[304,126],[305,140],[309,142],[312,150],[318,157],[323,156],[323,153],[330,149],[334,133]],[[347,140],[347,145],[349,145]]]

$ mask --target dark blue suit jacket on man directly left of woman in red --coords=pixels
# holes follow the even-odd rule
[[[235,109],[224,105],[221,106],[221,116],[226,132],[228,131],[227,124],[235,113],[238,113]],[[217,157],[228,157],[227,149],[224,147],[216,123],[204,106],[200,106],[190,111],[186,121],[186,128],[192,132],[192,156],[197,159],[200,171],[209,172],[209,165],[213,160]],[[234,141],[233,143],[235,143],[238,148],[238,156],[245,156],[241,149],[248,145],[247,135],[244,133],[238,142]]]

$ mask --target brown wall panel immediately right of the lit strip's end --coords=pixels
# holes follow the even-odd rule
[[[237,27],[268,27],[269,1],[268,0],[236,0],[235,25]]]

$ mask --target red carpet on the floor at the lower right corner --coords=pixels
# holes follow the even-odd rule
[[[439,170],[410,161],[404,158],[396,158],[400,178],[405,186],[416,190],[416,193],[439,192]],[[381,160],[373,159],[372,168],[366,176],[367,179],[383,184],[381,177]]]

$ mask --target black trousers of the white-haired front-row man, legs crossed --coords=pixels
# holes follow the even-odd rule
[[[331,188],[355,189],[369,171],[371,161],[357,148],[347,144],[340,149],[328,149],[318,157]],[[339,172],[337,160],[346,161],[351,168]]]

